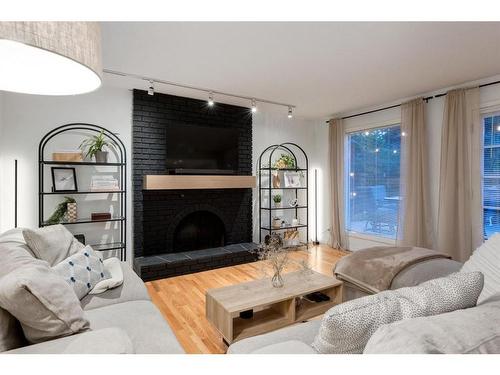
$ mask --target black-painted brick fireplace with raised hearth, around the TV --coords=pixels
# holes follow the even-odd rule
[[[134,90],[134,268],[144,280],[256,260],[251,251],[251,189],[144,190],[145,175],[165,175],[166,129],[238,129],[237,175],[252,172],[248,108]]]

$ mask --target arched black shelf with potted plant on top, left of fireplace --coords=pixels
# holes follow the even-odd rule
[[[47,148],[58,137],[64,137],[68,133],[81,133],[88,137],[80,144],[80,148],[87,150],[87,157],[95,157],[96,161],[82,160],[82,161],[60,161],[50,160],[47,158]],[[109,145],[112,146],[109,146]],[[103,151],[104,147],[112,148],[115,151],[115,161],[108,162],[107,154]],[[106,155],[105,155],[106,154]],[[115,167],[118,180],[118,189],[103,189],[103,190],[76,190],[76,191],[46,191],[45,174],[47,168],[50,166],[71,166],[76,171],[88,167]],[[113,132],[103,128],[99,125],[86,124],[86,123],[71,123],[59,126],[41,139],[38,147],[38,225],[40,227],[53,225],[55,223],[62,225],[78,226],[80,224],[94,224],[94,223],[116,223],[118,225],[118,241],[113,240],[109,243],[90,244],[94,250],[97,251],[117,251],[119,252],[120,259],[126,260],[126,226],[127,226],[127,155],[126,149],[120,138]],[[52,188],[54,189],[54,187]],[[118,212],[110,218],[105,219],[92,219],[90,217],[77,218],[75,220],[63,219],[61,213],[64,213],[65,204],[75,202],[73,195],[94,195],[94,194],[116,194]],[[64,196],[65,200],[60,203],[49,219],[46,219],[45,214],[47,211],[46,198],[49,196]],[[85,204],[80,202],[79,205]],[[89,202],[88,204],[92,204]],[[60,210],[60,212],[57,212]]]

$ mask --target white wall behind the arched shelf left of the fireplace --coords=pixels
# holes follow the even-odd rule
[[[14,225],[14,159],[19,162],[19,214],[18,223],[21,227],[38,226],[38,143],[48,131],[53,128],[72,122],[86,122],[101,125],[113,132],[119,133],[125,144],[127,156],[131,159],[131,129],[132,129],[132,93],[123,88],[102,87],[85,95],[50,97],[37,95],[23,95],[3,93],[3,133],[0,137],[0,232],[12,228]],[[77,148],[79,138],[72,138],[70,144],[55,144],[55,148]],[[104,172],[102,167],[92,167],[94,172]],[[104,167],[109,168],[109,167]],[[129,181],[128,191],[131,191],[130,176],[131,163],[128,164]],[[48,175],[47,175],[48,177]],[[88,175],[77,175],[80,184],[87,183]],[[80,182],[80,180],[83,182]],[[48,180],[48,178],[47,178]],[[50,188],[47,181],[46,189]],[[128,195],[128,249],[127,259],[131,259],[132,233],[132,194]],[[52,197],[51,197],[52,198]],[[116,201],[102,199],[92,204],[79,205],[79,212],[89,215],[92,210],[108,210],[116,207]],[[77,197],[79,199],[95,199]],[[53,204],[57,200],[52,201]],[[50,210],[50,209],[49,209]],[[86,212],[89,211],[89,212]],[[79,226],[85,232],[89,242],[108,242],[112,238],[98,238],[92,232],[91,225],[107,225],[106,229],[116,228],[114,223],[90,224],[88,227]],[[96,227],[94,227],[96,228]],[[77,226],[68,226],[68,229],[78,232]],[[102,229],[102,228],[101,228]],[[100,231],[99,231],[100,232]],[[116,236],[116,230],[109,231],[108,237]]]

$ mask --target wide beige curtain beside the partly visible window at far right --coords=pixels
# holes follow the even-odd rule
[[[441,139],[438,249],[465,261],[482,242],[479,89],[446,95]]]

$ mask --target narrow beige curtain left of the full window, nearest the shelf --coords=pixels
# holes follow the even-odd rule
[[[330,196],[332,247],[347,248],[344,223],[344,125],[341,119],[330,120]]]

